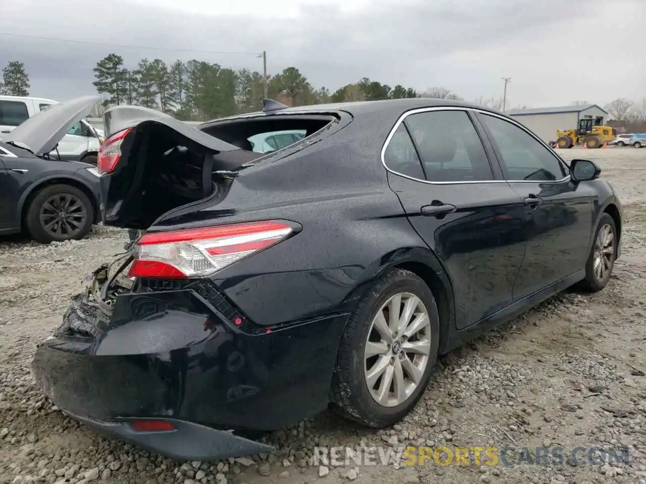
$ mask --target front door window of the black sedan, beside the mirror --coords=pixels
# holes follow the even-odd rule
[[[563,163],[548,148],[525,130],[505,119],[480,116],[503,157],[502,165],[508,180],[556,181],[567,176]]]

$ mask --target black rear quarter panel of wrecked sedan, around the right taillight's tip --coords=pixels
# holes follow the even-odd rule
[[[181,227],[262,219],[302,226],[295,236],[214,276],[255,323],[273,326],[342,311],[344,301],[397,254],[428,251],[380,163],[399,114],[355,119],[300,152],[247,168],[221,203],[174,217]]]

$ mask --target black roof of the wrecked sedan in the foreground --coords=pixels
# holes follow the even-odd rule
[[[214,123],[216,121],[224,121],[225,119],[244,119],[245,117],[266,116],[268,114],[297,114],[297,113],[311,113],[317,114],[321,112],[336,112],[345,111],[353,116],[362,116],[364,114],[374,114],[375,112],[384,112],[388,114],[395,114],[399,112],[403,114],[406,111],[419,108],[432,108],[432,107],[463,107],[481,109],[488,112],[496,112],[485,106],[464,103],[462,101],[453,101],[452,99],[435,99],[431,97],[413,97],[409,99],[384,99],[380,101],[355,101],[348,103],[329,103],[329,104],[315,104],[307,106],[294,106],[283,109],[277,109],[270,112],[256,111],[247,114],[236,114],[234,116],[223,117],[220,119],[211,119],[204,123]]]

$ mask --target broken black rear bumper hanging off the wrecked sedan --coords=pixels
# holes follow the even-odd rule
[[[236,325],[239,313],[214,294],[121,294],[109,321],[77,299],[36,350],[37,385],[75,418],[163,455],[207,460],[263,452],[226,430],[275,430],[324,410],[347,316],[250,334],[253,323]],[[70,323],[95,329],[66,334]],[[134,432],[127,421],[141,418],[179,427]],[[200,445],[191,447],[193,439]]]

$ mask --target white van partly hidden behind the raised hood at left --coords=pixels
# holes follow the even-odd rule
[[[41,97],[0,96],[0,139],[26,119],[56,104],[58,101]],[[103,132],[81,119],[63,136],[58,151],[54,150],[51,156],[96,165],[103,136]]]

